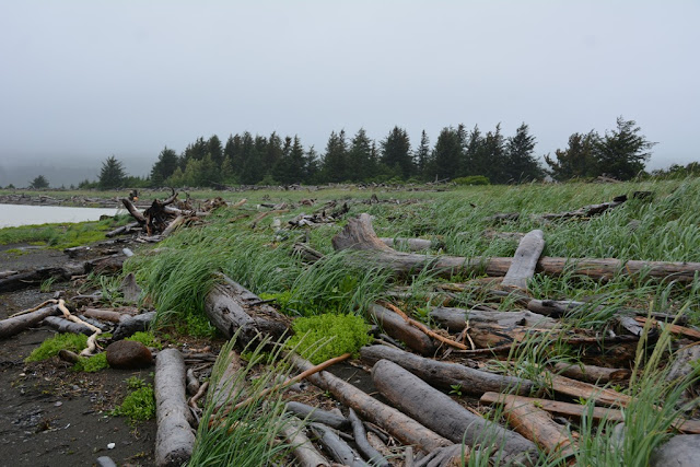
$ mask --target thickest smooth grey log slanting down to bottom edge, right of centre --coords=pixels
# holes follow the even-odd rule
[[[372,381],[377,390],[404,413],[453,443],[494,446],[504,463],[533,465],[538,457],[537,447],[530,441],[468,411],[396,363],[378,361],[372,369]]]

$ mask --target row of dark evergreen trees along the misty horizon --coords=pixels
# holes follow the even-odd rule
[[[512,136],[501,126],[482,131],[478,126],[445,127],[431,147],[425,131],[411,145],[406,129],[394,127],[375,141],[360,128],[353,136],[332,131],[326,147],[304,147],[300,137],[269,137],[248,131],[222,142],[217,135],[198,138],[178,154],[165,147],[145,179],[128,177],[110,156],[98,182],[81,187],[113,188],[128,182],[135,186],[190,186],[221,188],[232,185],[292,185],[326,183],[400,183],[456,180],[458,183],[512,184],[538,180],[591,178],[599,175],[621,180],[643,172],[655,143],[640,133],[633,120],[617,119],[604,136],[573,133],[569,145],[553,156],[535,155],[535,137],[526,124]],[[121,177],[121,180],[118,178]],[[140,182],[140,183],[138,183]]]

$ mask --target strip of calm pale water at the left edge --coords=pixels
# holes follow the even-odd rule
[[[114,215],[116,212],[116,209],[104,208],[0,205],[0,229],[57,222],[97,221],[101,215]]]

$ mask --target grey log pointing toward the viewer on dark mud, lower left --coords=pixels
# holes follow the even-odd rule
[[[155,465],[175,467],[192,453],[195,435],[185,396],[185,361],[177,349],[165,349],[155,359]]]

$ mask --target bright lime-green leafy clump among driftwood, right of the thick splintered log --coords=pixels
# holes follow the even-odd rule
[[[360,316],[351,314],[296,318],[292,328],[295,335],[288,345],[315,364],[346,352],[357,354],[371,341],[370,326]]]

